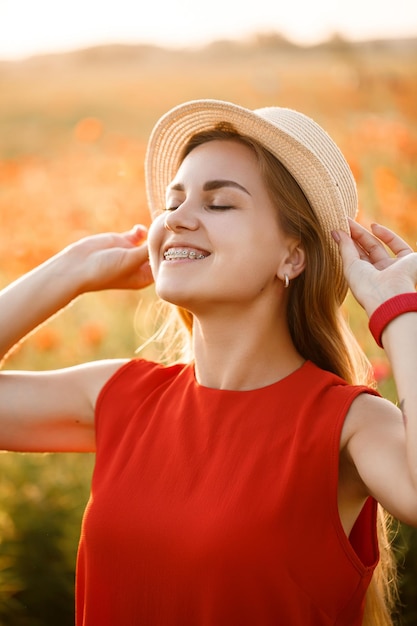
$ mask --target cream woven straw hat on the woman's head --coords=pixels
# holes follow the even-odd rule
[[[292,174],[322,225],[335,268],[340,301],[346,295],[342,262],[331,231],[349,232],[348,217],[357,212],[356,184],[341,151],[312,119],[281,107],[251,111],[220,100],[193,100],[168,111],[155,125],[147,148],[145,179],[152,214],[165,206],[166,187],[174,178],[180,154],[195,133],[222,122],[258,141]]]

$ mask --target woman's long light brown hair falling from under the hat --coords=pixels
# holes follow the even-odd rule
[[[349,384],[374,386],[372,369],[346,323],[334,288],[333,266],[320,223],[293,176],[262,145],[236,133],[229,124],[194,135],[185,146],[182,161],[195,147],[213,140],[236,140],[253,150],[261,175],[277,207],[282,230],[298,238],[305,251],[304,272],[289,289],[287,321],[298,352],[320,368],[333,372]],[[190,335],[192,314],[178,308]],[[389,516],[378,507],[380,559],[366,594],[363,626],[392,626],[391,611],[396,601],[395,559],[391,552]]]

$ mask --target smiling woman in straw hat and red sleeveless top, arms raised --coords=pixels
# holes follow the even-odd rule
[[[339,149],[287,109],[176,107],[146,179],[147,244],[86,238],[1,294],[3,354],[84,292],[152,280],[190,331],[189,363],[0,376],[4,449],[96,451],[77,623],[362,624],[377,502],[417,525],[417,254],[353,221]],[[400,409],[365,378],[347,284]]]

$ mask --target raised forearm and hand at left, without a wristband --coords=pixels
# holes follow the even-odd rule
[[[153,282],[146,228],[85,237],[0,292],[0,359],[34,328],[88,291]]]

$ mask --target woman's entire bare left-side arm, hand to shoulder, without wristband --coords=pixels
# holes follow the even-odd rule
[[[88,237],[0,293],[0,354],[87,291],[140,288],[152,282],[144,230]],[[100,389],[123,361],[52,372],[0,373],[0,448],[94,449]]]

